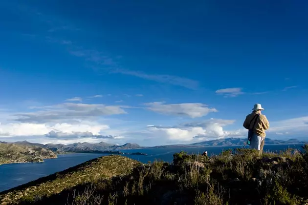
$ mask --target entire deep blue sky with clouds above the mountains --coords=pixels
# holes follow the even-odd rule
[[[0,140],[158,145],[307,139],[308,2],[0,5]],[[196,137],[197,136],[197,137]]]

